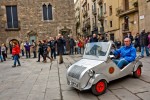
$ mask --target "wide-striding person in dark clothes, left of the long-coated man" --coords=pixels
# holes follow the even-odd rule
[[[50,50],[48,50],[48,49],[49,49],[49,46],[48,46],[48,44],[47,44],[47,41],[44,40],[43,42],[44,42],[44,44],[43,44],[43,58],[44,58],[43,62],[44,62],[44,63],[47,62],[46,58],[49,58],[50,61],[52,62],[52,58],[50,58],[50,57],[48,56]]]

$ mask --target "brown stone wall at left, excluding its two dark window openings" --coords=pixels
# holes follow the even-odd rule
[[[43,4],[52,5],[53,20],[43,20]],[[6,31],[6,5],[17,5],[20,30]],[[37,41],[43,40],[56,36],[63,28],[75,34],[73,0],[1,0],[0,7],[0,43],[11,39],[26,41],[32,35]]]

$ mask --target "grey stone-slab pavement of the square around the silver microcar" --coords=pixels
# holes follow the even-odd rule
[[[90,91],[70,88],[66,81],[68,65],[81,59],[80,55],[64,56],[64,64],[21,59],[21,67],[12,68],[13,61],[0,63],[0,100],[150,100],[150,57],[143,58],[140,79],[131,75],[108,84],[101,96]]]

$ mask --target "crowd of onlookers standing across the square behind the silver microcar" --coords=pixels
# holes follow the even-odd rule
[[[150,32],[146,33],[145,30],[143,30],[140,34],[137,33],[134,38],[131,33],[128,33],[124,38],[130,38],[131,44],[141,52],[141,57],[144,57],[144,49],[146,50],[146,55],[150,55]],[[13,42],[10,47],[10,52],[14,59],[14,65],[12,67],[16,67],[16,62],[18,62],[18,66],[21,66],[19,61],[20,56],[26,56],[28,59],[31,57],[31,52],[33,53],[33,58],[37,58],[37,62],[40,62],[42,57],[44,63],[47,62],[47,58],[52,62],[56,59],[56,56],[59,55],[59,64],[61,64],[63,63],[62,55],[67,54],[66,48],[69,48],[70,55],[83,54],[87,43],[102,41],[107,42],[108,40],[107,38],[96,34],[93,34],[92,37],[76,38],[73,38],[73,36],[70,35],[68,39],[65,39],[61,34],[58,34],[55,38],[50,37],[49,39],[40,40],[37,43],[34,40],[32,40],[31,43],[28,41],[21,41],[19,44]],[[116,39],[114,43],[116,44],[117,49],[124,45],[119,39]],[[6,61],[7,50],[8,48],[5,44],[0,46],[1,62]]]

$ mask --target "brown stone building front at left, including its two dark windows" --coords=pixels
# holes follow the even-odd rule
[[[0,0],[0,43],[75,34],[74,0]]]

